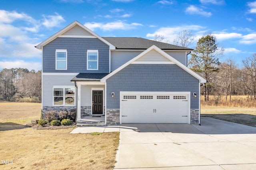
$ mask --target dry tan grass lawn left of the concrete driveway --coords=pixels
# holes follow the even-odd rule
[[[0,169],[113,169],[119,133],[70,134],[72,128],[36,130],[41,104],[0,102]],[[1,164],[1,160],[10,164]]]

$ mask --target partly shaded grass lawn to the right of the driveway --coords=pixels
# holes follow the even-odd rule
[[[201,117],[256,127],[256,107],[201,106]]]

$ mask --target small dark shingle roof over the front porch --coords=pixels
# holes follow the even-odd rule
[[[72,78],[71,81],[100,81],[100,79],[108,74],[109,73],[79,73]]]

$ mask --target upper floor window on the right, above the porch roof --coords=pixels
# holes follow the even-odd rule
[[[98,50],[87,50],[87,70],[98,70]]]

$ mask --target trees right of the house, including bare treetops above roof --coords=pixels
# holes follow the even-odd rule
[[[188,47],[195,42],[195,38],[191,31],[183,30],[173,43]],[[163,35],[155,35],[154,40],[166,42]],[[201,84],[200,92],[204,101],[209,101],[209,95],[225,95],[230,101],[232,95],[248,95],[251,100],[256,100],[256,53],[246,56],[242,67],[231,57],[220,63],[223,56],[224,48],[220,47],[212,33],[208,33],[198,40],[188,60],[188,67],[206,80]]]

